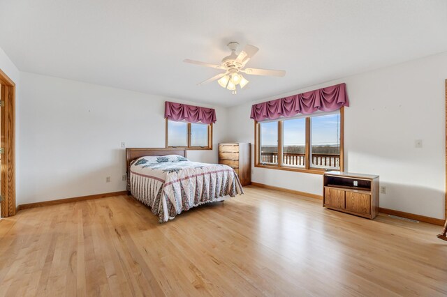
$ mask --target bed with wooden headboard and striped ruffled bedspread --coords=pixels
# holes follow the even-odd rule
[[[126,148],[126,169],[127,190],[149,206],[159,222],[244,193],[233,168],[191,162],[184,149]]]

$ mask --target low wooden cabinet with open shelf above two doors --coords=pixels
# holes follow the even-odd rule
[[[323,206],[374,219],[379,213],[379,176],[326,172]]]

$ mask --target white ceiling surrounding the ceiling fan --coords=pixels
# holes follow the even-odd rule
[[[226,44],[260,48],[231,95],[219,70]],[[31,73],[232,106],[447,51],[445,0],[1,0],[0,47]]]

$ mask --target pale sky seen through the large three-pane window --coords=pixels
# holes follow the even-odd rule
[[[312,144],[339,144],[339,114],[313,116],[311,118]],[[283,121],[284,146],[304,146],[306,143],[306,120],[291,119]],[[261,145],[277,145],[277,122],[261,123]]]

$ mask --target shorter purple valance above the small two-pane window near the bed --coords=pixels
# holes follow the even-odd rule
[[[214,108],[198,107],[175,102],[165,102],[165,118],[189,123],[216,123]]]

